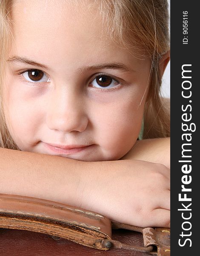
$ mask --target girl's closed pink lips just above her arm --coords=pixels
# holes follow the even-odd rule
[[[94,144],[91,144],[91,145],[58,145],[58,144],[44,143],[44,145],[51,152],[54,152],[56,154],[69,155],[69,154],[76,154],[78,152],[85,151],[86,149],[90,148]]]

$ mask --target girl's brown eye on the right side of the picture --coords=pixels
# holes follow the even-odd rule
[[[113,79],[111,76],[100,75],[97,76],[92,82],[93,87],[97,88],[112,88],[120,84],[119,81]]]

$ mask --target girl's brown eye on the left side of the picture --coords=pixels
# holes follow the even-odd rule
[[[42,70],[27,70],[22,76],[29,82],[49,82],[50,79]]]

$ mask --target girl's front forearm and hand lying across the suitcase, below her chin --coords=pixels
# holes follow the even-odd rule
[[[57,201],[140,227],[169,227],[169,169],[140,160],[82,162],[0,148],[0,193]]]

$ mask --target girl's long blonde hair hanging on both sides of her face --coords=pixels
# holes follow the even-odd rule
[[[76,1],[75,1],[76,2]],[[78,2],[77,2],[78,3]],[[108,28],[106,35],[137,58],[151,57],[148,94],[144,110],[143,138],[169,137],[169,111],[160,98],[159,61],[169,51],[167,0],[94,0]],[[6,127],[2,87],[6,54],[11,44],[12,0],[0,0],[0,147],[18,149]]]

